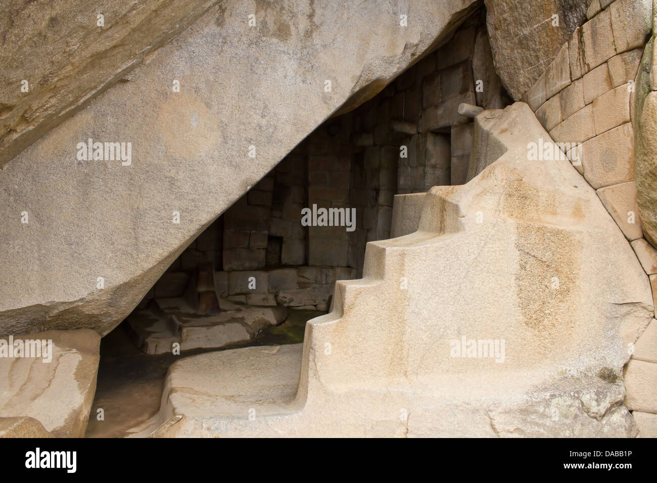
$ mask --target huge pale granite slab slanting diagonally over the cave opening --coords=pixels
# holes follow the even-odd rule
[[[392,1],[212,7],[5,165],[0,333],[106,334],[307,133],[444,41],[472,3],[413,2],[407,26]],[[107,152],[85,160],[89,139]]]

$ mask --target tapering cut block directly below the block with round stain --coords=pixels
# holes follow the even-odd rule
[[[600,188],[596,193],[627,240],[643,237],[637,205],[637,185],[634,181]]]

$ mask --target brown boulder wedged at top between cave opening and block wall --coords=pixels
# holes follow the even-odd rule
[[[485,0],[495,67],[516,101],[586,20],[586,0]],[[556,22],[553,16],[558,16]]]

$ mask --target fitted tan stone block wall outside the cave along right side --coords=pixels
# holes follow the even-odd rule
[[[568,158],[631,243],[657,304],[657,250],[643,238],[638,216],[631,119],[652,0],[593,0],[587,18],[523,100],[554,141],[570,143]],[[657,437],[657,320],[628,350],[625,405],[641,434]]]

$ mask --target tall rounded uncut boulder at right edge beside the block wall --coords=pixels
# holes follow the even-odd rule
[[[650,78],[656,67],[654,39],[646,45],[635,89],[635,176],[641,227],[646,240],[657,247],[657,85]],[[654,72],[653,72],[654,74]]]

